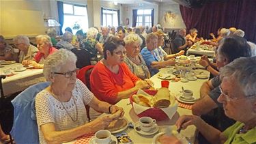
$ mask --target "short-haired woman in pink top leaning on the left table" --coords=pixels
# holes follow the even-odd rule
[[[22,63],[23,65],[30,65],[34,68],[44,68],[46,57],[55,53],[57,49],[53,47],[51,38],[48,35],[38,35],[35,40],[38,44],[38,53],[33,57],[33,60],[24,60]]]

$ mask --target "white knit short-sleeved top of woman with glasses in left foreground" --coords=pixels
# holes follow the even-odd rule
[[[76,79],[76,85],[72,90],[72,96],[74,99],[71,98],[69,102],[62,103],[66,107],[70,116],[74,119],[76,117],[77,106],[78,117],[75,122],[72,121],[66,110],[63,109],[61,102],[55,99],[50,92],[44,89],[37,94],[35,97],[35,111],[38,122],[40,143],[46,143],[40,130],[40,126],[43,124],[54,123],[55,129],[60,131],[70,130],[86,123],[87,117],[85,104],[89,104],[89,102],[91,102],[92,98],[94,98],[94,94],[91,93],[91,91],[89,91],[89,89],[87,89],[79,79]],[[76,106],[74,104],[74,100],[76,100]]]

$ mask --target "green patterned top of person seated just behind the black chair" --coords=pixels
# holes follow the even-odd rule
[[[98,61],[98,57],[97,57],[98,50],[95,47],[97,43],[98,41],[95,40],[94,38],[85,38],[83,40],[83,43],[81,44],[81,48],[84,48],[90,53],[92,65],[94,63],[96,64],[96,62]]]

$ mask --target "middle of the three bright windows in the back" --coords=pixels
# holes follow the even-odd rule
[[[103,9],[102,26],[104,26],[104,27],[108,27],[108,26],[117,27],[118,26],[117,10]]]

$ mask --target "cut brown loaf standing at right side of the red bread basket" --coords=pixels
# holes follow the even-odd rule
[[[155,97],[154,107],[158,108],[166,108],[168,107],[170,102],[170,91],[167,87],[162,87],[158,89]]]

